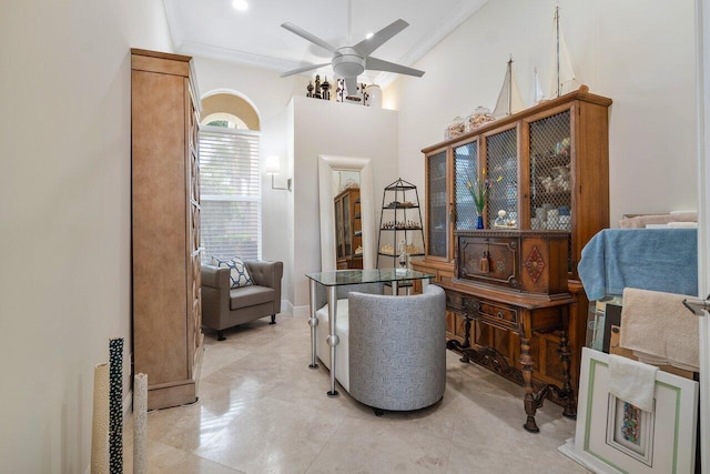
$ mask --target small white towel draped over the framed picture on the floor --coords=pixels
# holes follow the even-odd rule
[[[658,367],[609,354],[609,392],[645,412],[653,411]]]

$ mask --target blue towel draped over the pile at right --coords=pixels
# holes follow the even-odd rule
[[[697,229],[605,229],[577,266],[590,301],[625,288],[698,294]]]

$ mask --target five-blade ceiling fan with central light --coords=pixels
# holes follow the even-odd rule
[[[348,14],[348,18],[349,17],[351,16]],[[409,23],[402,19],[396,20],[382,30],[377,31],[369,39],[365,39],[355,46],[335,48],[334,46],[328,44],[326,41],[323,41],[315,34],[312,34],[304,29],[296,27],[291,22],[285,22],[282,24],[283,28],[291,31],[292,33],[300,36],[301,38],[311,41],[314,44],[320,46],[321,48],[326,49],[327,51],[331,51],[333,53],[333,59],[331,60],[331,62],[324,62],[322,64],[310,64],[303,68],[294,69],[292,71],[286,71],[282,73],[281,77],[285,78],[287,75],[298,74],[301,72],[311,71],[313,69],[323,68],[325,65],[332,65],[335,74],[345,79],[345,88],[348,95],[354,95],[357,92],[357,77],[362,74],[366,69],[371,71],[396,72],[398,74],[415,75],[417,78],[420,78],[422,75],[424,75],[424,71],[407,68],[406,65],[396,64],[394,62],[388,62],[369,56],[371,53],[373,53],[373,51],[383,46],[387,40],[389,40],[392,37],[397,34],[408,26]],[[349,24],[347,37],[349,42]]]

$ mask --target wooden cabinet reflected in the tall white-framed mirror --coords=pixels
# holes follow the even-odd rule
[[[363,224],[359,189],[346,189],[335,196],[335,243],[337,269],[363,268]]]

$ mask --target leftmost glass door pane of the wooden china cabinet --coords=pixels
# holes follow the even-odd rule
[[[448,258],[448,213],[446,196],[446,150],[427,157],[426,212],[427,254]]]

